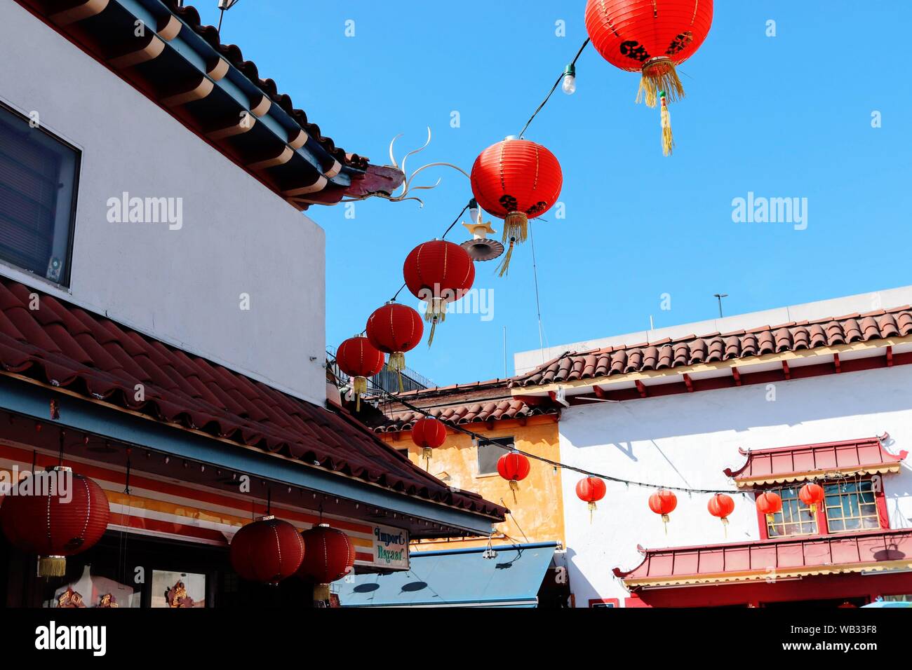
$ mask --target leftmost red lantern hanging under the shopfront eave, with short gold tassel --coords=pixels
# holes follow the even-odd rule
[[[67,572],[67,556],[86,551],[108,528],[108,497],[88,477],[58,466],[20,481],[0,508],[6,538],[38,555],[38,575]]]

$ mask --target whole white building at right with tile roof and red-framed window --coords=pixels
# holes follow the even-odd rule
[[[896,304],[908,304],[912,302],[912,290],[889,292],[886,297],[896,300]],[[643,342],[644,334],[639,334],[638,340],[620,336],[612,338],[613,346],[565,356],[572,361],[569,371],[567,366],[559,371],[558,362],[543,366],[550,372],[534,375],[532,383],[526,378],[526,386],[517,392],[564,394],[560,448],[561,460],[568,466],[647,482],[657,488],[734,491],[739,489],[736,484],[741,484],[748,490],[773,490],[782,494],[786,508],[789,496],[794,498],[804,483],[815,480],[826,487],[825,517],[813,519],[814,515],[796,501],[791,504],[797,505],[797,518],[792,519],[792,512],[786,510],[784,516],[776,518],[772,532],[764,527],[766,519],[758,514],[753,492],[732,493],[735,508],[726,535],[726,528],[707,510],[708,493],[677,492],[677,508],[669,515],[666,531],[659,515],[648,506],[655,489],[610,481],[606,482],[605,498],[597,502],[590,523],[586,504],[575,493],[580,476],[565,470],[562,479],[567,559],[576,606],[762,606],[840,598],[858,604],[880,594],[912,593],[912,572],[903,563],[909,558],[908,533],[900,531],[898,539],[889,534],[884,539],[878,534],[912,529],[912,468],[907,459],[901,458],[903,452],[912,451],[912,366],[906,365],[908,352],[912,351],[912,337],[908,335],[912,317],[904,315],[908,314],[907,309],[876,311],[867,316],[852,313],[854,305],[866,304],[869,299],[870,296],[855,296],[785,309],[786,313],[791,310],[793,314],[803,314],[809,323],[790,320],[782,327],[770,328],[764,326],[771,323],[766,319],[768,313],[745,314],[727,320],[733,327],[723,331],[725,335],[719,335],[717,330],[704,338],[691,335],[676,339],[654,333],[648,334],[652,336],[645,344],[634,346],[621,343]],[[836,334],[834,323],[840,325],[841,335]],[[895,328],[890,325],[893,323]],[[873,332],[875,327],[877,333]],[[695,325],[674,330],[676,334],[701,332]],[[787,344],[786,331],[791,338]],[[855,331],[861,336],[855,337]],[[821,333],[824,339],[829,337],[828,344],[820,339]],[[808,335],[811,340],[818,336],[816,346],[803,345]],[[762,345],[764,337],[772,340],[772,352],[751,355],[745,338],[760,340]],[[851,341],[841,343],[843,339]],[[680,347],[689,343],[692,359],[693,352],[701,346],[694,342],[700,340],[709,346],[703,361],[695,363],[687,358],[687,347]],[[741,352],[734,351],[736,340],[741,341]],[[714,345],[720,356],[712,356]],[[523,356],[535,354],[517,355],[517,367],[521,367]],[[624,366],[612,367],[612,360],[618,356]],[[674,362],[669,364],[668,358]],[[849,463],[845,453],[854,446],[838,448],[842,453],[839,468],[821,457],[834,453],[837,447],[833,443],[870,442],[876,437],[882,438],[882,457],[852,456]],[[744,452],[762,454],[764,450],[779,449],[774,452],[776,459],[791,459],[793,452],[782,448],[799,445],[821,445],[810,449],[821,459],[819,468],[784,467],[780,463],[772,468],[770,478],[753,482],[736,481],[725,472],[731,469],[731,474],[738,477],[748,460]],[[808,453],[807,448],[798,451]],[[861,462],[865,460],[872,462]],[[889,464],[884,465],[884,461]],[[856,467],[844,467],[847,463]],[[753,474],[757,471],[755,468]],[[777,479],[772,477],[775,474],[780,475],[780,481],[767,481]],[[858,487],[863,490],[841,493],[857,491]],[[882,487],[882,497],[877,493],[879,514],[875,518],[878,487]],[[786,526],[787,521],[797,523]],[[872,535],[876,538],[872,539]],[[845,547],[846,542],[856,542],[858,538],[886,542],[886,553],[865,549],[872,555],[861,556],[864,551],[859,550],[857,562],[845,557],[836,560],[830,555],[819,561],[810,558],[822,544],[831,551],[834,543]],[[813,551],[804,546],[812,543]],[[720,560],[713,567],[706,554],[721,552],[701,552],[699,548],[718,544],[732,545],[731,557],[729,564]],[[638,546],[649,550],[645,556]],[[690,549],[654,551],[681,547]],[[772,551],[772,558],[759,557],[761,550]],[[738,563],[738,552],[740,556],[751,554],[749,564]],[[807,565],[795,564],[789,554],[802,554]],[[876,558],[872,557],[874,554]],[[880,573],[892,576],[883,587],[873,577],[862,577],[862,582],[857,582],[851,576],[865,573],[863,559],[884,558],[892,562],[888,571]],[[705,564],[685,565],[693,561]],[[818,574],[818,563],[842,565],[833,569],[837,575],[833,579],[855,579],[855,583],[847,586],[832,579],[826,582],[828,578]],[[620,569],[617,576],[613,572],[616,567]],[[772,589],[764,591],[769,574],[764,577],[763,572],[787,573],[789,581],[783,580],[774,593]],[[868,584],[869,589],[865,588]],[[859,590],[867,593],[859,595]],[[720,596],[718,602],[714,602],[714,594]]]

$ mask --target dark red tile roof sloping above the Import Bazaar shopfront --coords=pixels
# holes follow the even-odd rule
[[[35,293],[0,277],[0,365],[7,372],[503,521],[503,507],[451,490],[352,417],[53,296],[39,294],[39,308],[29,309]],[[138,384],[143,401],[135,399]]]

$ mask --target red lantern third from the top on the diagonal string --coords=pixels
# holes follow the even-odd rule
[[[447,305],[460,300],[475,282],[475,264],[459,244],[444,240],[424,242],[411,250],[402,266],[409,292],[428,304],[424,320],[430,321],[428,346],[434,329],[447,316]]]

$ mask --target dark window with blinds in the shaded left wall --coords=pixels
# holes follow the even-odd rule
[[[79,151],[0,106],[0,261],[69,284]]]

